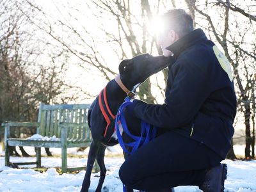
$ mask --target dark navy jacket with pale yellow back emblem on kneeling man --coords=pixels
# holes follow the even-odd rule
[[[236,116],[227,58],[202,29],[195,29],[167,49],[173,52],[174,62],[168,67],[164,104],[134,100],[134,115],[159,129],[200,141],[225,159]]]

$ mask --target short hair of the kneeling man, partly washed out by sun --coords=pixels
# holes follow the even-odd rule
[[[194,30],[193,19],[182,9],[172,9],[161,17],[165,31],[172,29],[179,37],[187,35]]]

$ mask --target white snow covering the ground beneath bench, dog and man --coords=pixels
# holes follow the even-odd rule
[[[25,148],[29,154],[35,154],[33,148]],[[69,148],[69,153],[88,154],[88,149],[84,152],[76,152],[76,148]],[[60,154],[60,149],[51,148],[54,154]],[[118,154],[122,152],[119,147],[112,147],[106,154]],[[44,150],[42,150],[44,154]],[[85,171],[77,174],[64,173],[60,175],[53,167],[61,166],[60,157],[42,157],[42,166],[49,168],[45,173],[36,172],[28,167],[34,165],[22,166],[28,169],[13,169],[4,166],[4,153],[0,152],[0,191],[79,191],[83,182]],[[11,162],[35,161],[35,157],[11,157]],[[124,162],[122,157],[105,157],[107,175],[103,184],[102,191],[122,191],[122,183],[118,176],[118,169]],[[225,182],[225,192],[250,192],[256,191],[256,161],[230,161],[228,164],[228,179]],[[84,166],[84,158],[68,158],[68,166]],[[99,173],[92,173],[91,185],[89,191],[95,191],[99,181]],[[175,188],[176,192],[196,192],[200,191],[196,186],[179,186]]]

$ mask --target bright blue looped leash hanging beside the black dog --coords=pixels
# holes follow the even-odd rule
[[[141,145],[145,145],[148,143],[148,141],[156,138],[156,127],[153,127],[152,130],[150,130],[150,124],[147,124],[143,120],[141,120],[141,135],[140,136],[134,136],[129,131],[125,116],[124,116],[124,109],[131,105],[131,98],[126,97],[124,103],[120,106],[120,108],[117,111],[116,114],[116,120],[115,120],[115,127],[116,127],[116,135],[118,138],[118,142],[120,146],[123,148],[124,152],[127,154],[132,154],[135,152]],[[122,124],[122,127],[124,129],[125,134],[127,134],[130,138],[132,138],[134,141],[131,143],[124,143],[124,140],[122,139],[118,124]],[[143,134],[146,132],[146,137],[143,137]],[[132,151],[129,152],[126,147],[132,147]],[[123,184],[123,191],[127,192],[125,189],[125,185]]]

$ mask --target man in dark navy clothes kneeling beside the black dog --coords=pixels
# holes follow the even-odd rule
[[[184,10],[170,10],[162,19],[159,45],[173,58],[164,104],[134,100],[126,116],[155,125],[157,137],[127,158],[120,179],[143,191],[187,185],[223,191],[227,165],[220,162],[230,150],[236,116],[230,64],[202,29],[193,29]]]

